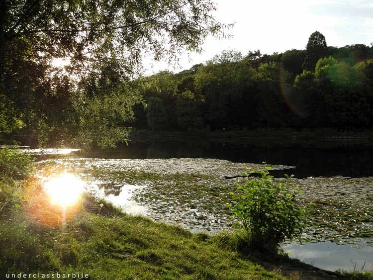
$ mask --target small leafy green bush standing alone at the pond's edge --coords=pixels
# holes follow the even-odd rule
[[[285,175],[284,180],[274,180],[269,175],[271,167],[242,175],[247,183],[238,181],[237,192],[230,192],[233,210],[245,230],[248,249],[278,253],[280,243],[302,232],[300,218],[304,210],[296,204],[300,190]],[[253,174],[260,175],[259,178]]]

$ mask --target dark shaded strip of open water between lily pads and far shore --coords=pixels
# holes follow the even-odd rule
[[[292,166],[296,178],[373,176],[370,140],[215,139],[133,140],[91,157],[124,159],[203,158]],[[282,176],[281,172],[274,172]]]

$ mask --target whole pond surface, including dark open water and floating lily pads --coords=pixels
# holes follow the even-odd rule
[[[80,155],[84,158],[40,161],[39,171],[74,172],[125,211],[213,233],[235,223],[225,203],[237,183],[224,176],[257,169],[266,161],[274,164],[276,180],[283,180],[284,173],[295,175],[292,182],[303,191],[299,203],[307,206],[308,243],[287,244],[285,251],[328,270],[373,269],[369,143],[193,141],[133,142]]]

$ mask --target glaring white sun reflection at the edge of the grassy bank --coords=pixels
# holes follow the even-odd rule
[[[59,174],[44,184],[44,190],[52,203],[62,206],[73,205],[84,190],[85,183],[71,173]]]

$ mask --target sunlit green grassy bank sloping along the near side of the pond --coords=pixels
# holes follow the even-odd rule
[[[1,212],[1,279],[18,273],[80,273],[88,279],[286,279],[226,248],[216,236],[126,215],[104,201],[82,199],[75,211],[64,214],[63,208],[43,202],[43,196],[36,203],[14,198]]]

